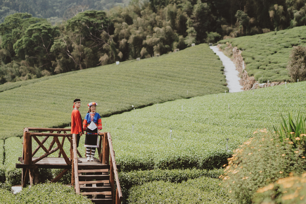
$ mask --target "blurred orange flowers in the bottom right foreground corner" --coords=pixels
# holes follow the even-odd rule
[[[306,202],[306,173],[301,177],[293,176],[278,179],[265,187],[259,188],[253,198],[254,204],[302,204]]]

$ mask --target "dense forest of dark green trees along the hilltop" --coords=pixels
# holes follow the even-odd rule
[[[306,0],[0,0],[0,84],[293,28],[305,13]]]

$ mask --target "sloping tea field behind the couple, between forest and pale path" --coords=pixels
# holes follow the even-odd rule
[[[222,62],[206,44],[120,65],[0,85],[0,139],[24,127],[69,125],[73,100],[98,103],[100,115],[154,103],[227,91]],[[6,91],[5,91],[6,90]]]

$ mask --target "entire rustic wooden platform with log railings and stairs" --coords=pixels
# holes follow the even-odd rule
[[[86,157],[82,158],[76,148],[76,135],[67,134],[68,131],[70,129],[67,128],[24,128],[22,157],[19,158],[21,163],[16,164],[16,168],[22,169],[22,187],[38,183],[39,168],[64,169],[50,182],[57,182],[71,169],[71,186],[75,188],[77,194],[88,196],[94,203],[121,204],[122,192],[110,133],[99,132],[99,147],[96,151],[99,159],[86,161]],[[44,139],[39,140],[38,137],[44,137]],[[52,141],[49,148],[46,148],[44,143],[49,137]],[[38,144],[34,151],[32,151],[32,138]],[[62,138],[62,142],[59,138]],[[70,143],[70,158],[63,148],[65,139]],[[55,143],[57,147],[53,148]],[[45,151],[45,154],[34,157],[40,148]],[[48,157],[57,150],[59,150],[58,157]],[[77,162],[77,156],[82,163]],[[115,180],[116,193],[114,192]]]

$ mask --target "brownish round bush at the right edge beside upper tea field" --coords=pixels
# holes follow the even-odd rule
[[[306,80],[306,46],[295,46],[292,49],[288,70],[293,81]]]

